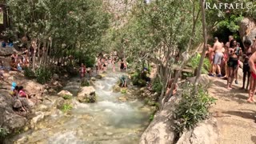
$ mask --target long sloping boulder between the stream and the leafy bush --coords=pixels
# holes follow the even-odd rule
[[[174,111],[175,102],[178,102],[178,98],[170,98],[170,101],[166,103],[164,108],[154,115],[150,126],[146,128],[140,138],[140,144],[174,143],[175,132],[172,111]]]

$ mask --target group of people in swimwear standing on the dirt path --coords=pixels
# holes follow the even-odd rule
[[[229,41],[224,45],[219,42],[218,38],[214,38],[214,46],[208,46],[206,57],[211,63],[210,76],[220,77],[226,79],[226,88],[228,90],[234,89],[233,82],[238,84],[238,69],[242,68],[242,90],[248,90],[248,102],[255,102],[254,93],[256,86],[256,37],[253,42],[249,39],[244,40],[244,49],[240,46],[233,36],[229,36]],[[255,66],[254,66],[255,65]],[[224,75],[225,76],[222,76]],[[247,83],[246,83],[247,78]],[[246,86],[246,87],[245,87]]]

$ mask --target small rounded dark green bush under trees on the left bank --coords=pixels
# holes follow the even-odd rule
[[[35,71],[35,75],[37,77],[37,82],[44,84],[46,82],[50,81],[50,78],[52,76],[50,69],[46,67],[39,67]]]

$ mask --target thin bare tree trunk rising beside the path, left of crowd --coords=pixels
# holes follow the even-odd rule
[[[206,47],[206,45],[207,45],[207,30],[206,30],[205,0],[200,0],[200,4],[201,4],[201,10],[202,10],[202,29],[203,29],[204,46],[203,46],[202,55],[201,55],[199,66],[198,66],[197,76],[194,80],[195,89],[197,89],[197,87],[198,87],[198,80],[199,80],[199,77],[200,77],[200,74],[202,71],[203,60],[205,58],[206,48],[207,48]]]

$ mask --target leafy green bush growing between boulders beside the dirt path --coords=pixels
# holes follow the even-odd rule
[[[182,90],[182,99],[174,110],[175,130],[182,133],[190,130],[198,122],[208,118],[209,108],[215,99],[207,92],[207,86],[199,86],[195,91],[194,85],[187,83]]]

